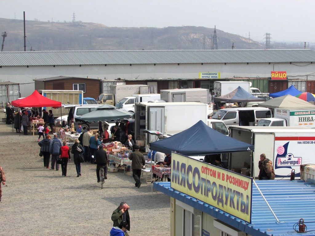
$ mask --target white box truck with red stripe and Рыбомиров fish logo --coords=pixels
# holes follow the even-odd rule
[[[272,161],[276,179],[289,179],[294,169],[300,177],[300,165],[314,163],[315,130],[303,127],[230,126],[230,136],[254,145],[254,152],[234,152],[229,158],[231,169],[250,165],[250,176],[258,178],[262,153]],[[228,144],[227,144],[228,145]]]

